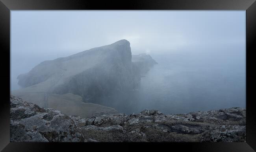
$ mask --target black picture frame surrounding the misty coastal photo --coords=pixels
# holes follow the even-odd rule
[[[10,143],[10,11],[12,10],[246,10],[246,142],[244,143]],[[0,150],[2,151],[75,151],[81,150],[189,150],[208,152],[250,152],[256,150],[256,2],[255,0],[0,0],[1,106]],[[89,148],[88,148],[89,147]],[[164,150],[164,149],[163,149]]]

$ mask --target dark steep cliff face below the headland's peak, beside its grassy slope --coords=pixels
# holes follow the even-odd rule
[[[82,96],[84,102],[94,103],[97,98],[124,92],[135,86],[128,41],[121,40],[109,46],[96,48],[91,53],[96,54],[97,63],[72,75],[63,84],[55,86],[53,93],[73,93]],[[87,57],[88,53],[84,56]]]

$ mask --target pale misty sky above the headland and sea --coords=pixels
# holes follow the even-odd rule
[[[121,39],[132,54],[245,52],[245,19],[245,11],[11,11],[11,90],[19,74],[44,60]]]

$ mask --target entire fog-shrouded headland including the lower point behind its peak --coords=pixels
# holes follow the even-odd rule
[[[52,94],[79,95],[85,103],[97,103],[101,98],[134,89],[152,63],[155,61],[149,55],[132,56],[130,42],[119,40],[40,63],[18,76],[24,88],[12,94],[42,107],[49,105]]]

